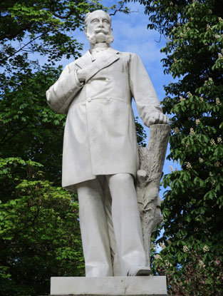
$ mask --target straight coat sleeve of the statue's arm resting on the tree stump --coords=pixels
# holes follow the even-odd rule
[[[162,113],[155,89],[150,77],[138,55],[130,53],[130,90],[135,99],[140,118],[148,126],[148,118],[152,113]]]

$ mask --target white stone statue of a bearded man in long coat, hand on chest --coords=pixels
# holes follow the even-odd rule
[[[168,118],[140,58],[110,47],[105,11],[85,16],[85,34],[90,50],[64,68],[46,98],[54,111],[68,114],[62,185],[78,192],[86,276],[113,276],[105,183],[122,275],[149,275],[134,185],[139,158],[132,98],[145,126]]]

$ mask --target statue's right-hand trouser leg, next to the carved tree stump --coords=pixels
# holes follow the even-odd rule
[[[113,198],[115,240],[123,275],[127,275],[131,267],[146,265],[135,185],[128,173],[109,175],[107,180]]]

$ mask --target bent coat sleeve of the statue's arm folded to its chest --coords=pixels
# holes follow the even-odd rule
[[[70,66],[66,66],[58,81],[46,91],[48,106],[56,113],[66,114],[73,98],[82,87],[83,83],[78,81],[76,69],[71,71]]]

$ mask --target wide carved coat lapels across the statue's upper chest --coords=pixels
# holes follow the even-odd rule
[[[110,66],[110,64],[114,63],[119,59],[118,55],[119,51],[115,51],[114,49],[108,49],[106,56],[102,56],[101,58],[97,58],[94,62],[91,60],[90,51],[87,51],[81,58],[78,58],[76,64],[81,68],[85,68],[87,66],[92,66],[90,71],[88,71],[85,82],[87,82],[92,76],[94,76],[101,69]]]

